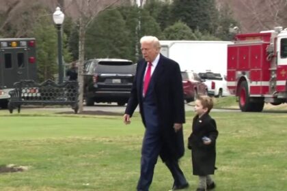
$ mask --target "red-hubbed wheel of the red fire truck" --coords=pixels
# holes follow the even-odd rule
[[[239,87],[239,91],[238,91],[238,96],[239,96],[239,108],[241,109],[241,111],[253,111],[253,106],[254,104],[252,104],[250,102],[249,99],[249,91],[248,91],[248,87],[247,87],[247,82],[243,81],[241,82],[241,85]]]

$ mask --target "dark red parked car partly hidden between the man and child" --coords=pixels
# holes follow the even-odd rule
[[[207,87],[195,72],[181,72],[184,100],[192,102],[198,95],[207,95]]]

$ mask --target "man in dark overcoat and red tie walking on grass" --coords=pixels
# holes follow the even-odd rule
[[[140,40],[143,59],[137,63],[137,73],[124,114],[124,123],[130,119],[139,104],[146,132],[141,148],[141,175],[137,190],[147,191],[152,183],[158,156],[174,177],[172,190],[189,187],[178,160],[184,154],[182,123],[184,98],[180,67],[176,61],[160,54],[161,44],[156,37]]]

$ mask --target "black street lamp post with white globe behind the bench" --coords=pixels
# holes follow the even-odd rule
[[[56,11],[53,13],[53,20],[55,25],[57,26],[58,33],[58,66],[59,66],[59,84],[63,83],[64,78],[64,70],[63,70],[63,56],[62,56],[62,45],[61,45],[61,25],[64,22],[64,13],[61,12],[59,7],[56,8]]]

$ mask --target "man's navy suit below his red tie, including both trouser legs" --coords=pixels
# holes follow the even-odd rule
[[[143,101],[143,112],[146,119],[146,132],[141,148],[141,175],[137,184],[137,190],[148,191],[154,175],[154,166],[163,147],[163,140],[156,107],[146,98]],[[165,164],[174,177],[174,186],[182,186],[187,183],[177,160],[171,157]]]

